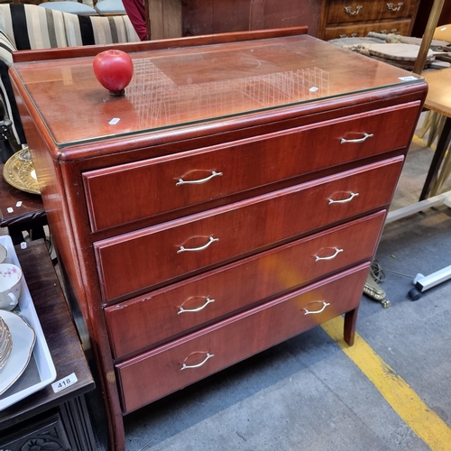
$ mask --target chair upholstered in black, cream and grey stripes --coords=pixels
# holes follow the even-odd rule
[[[37,5],[0,5],[0,94],[17,143],[26,141],[8,75],[13,51],[138,41],[127,15],[87,16]]]

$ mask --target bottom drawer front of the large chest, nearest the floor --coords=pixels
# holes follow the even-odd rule
[[[370,263],[116,366],[124,412],[356,308]]]

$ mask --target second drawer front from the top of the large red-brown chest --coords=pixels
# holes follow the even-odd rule
[[[401,156],[392,158],[97,242],[103,299],[186,278],[219,262],[386,206],[402,162]]]

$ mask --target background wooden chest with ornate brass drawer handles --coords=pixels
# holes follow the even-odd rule
[[[329,41],[369,32],[410,36],[418,8],[415,0],[323,0],[318,38]]]

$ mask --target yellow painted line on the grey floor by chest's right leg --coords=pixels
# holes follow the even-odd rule
[[[433,451],[451,450],[451,428],[433,410],[428,408],[409,384],[386,364],[358,334],[355,334],[354,346],[346,345],[343,339],[343,318],[331,319],[323,323],[321,327],[373,382],[391,408],[419,438]]]

